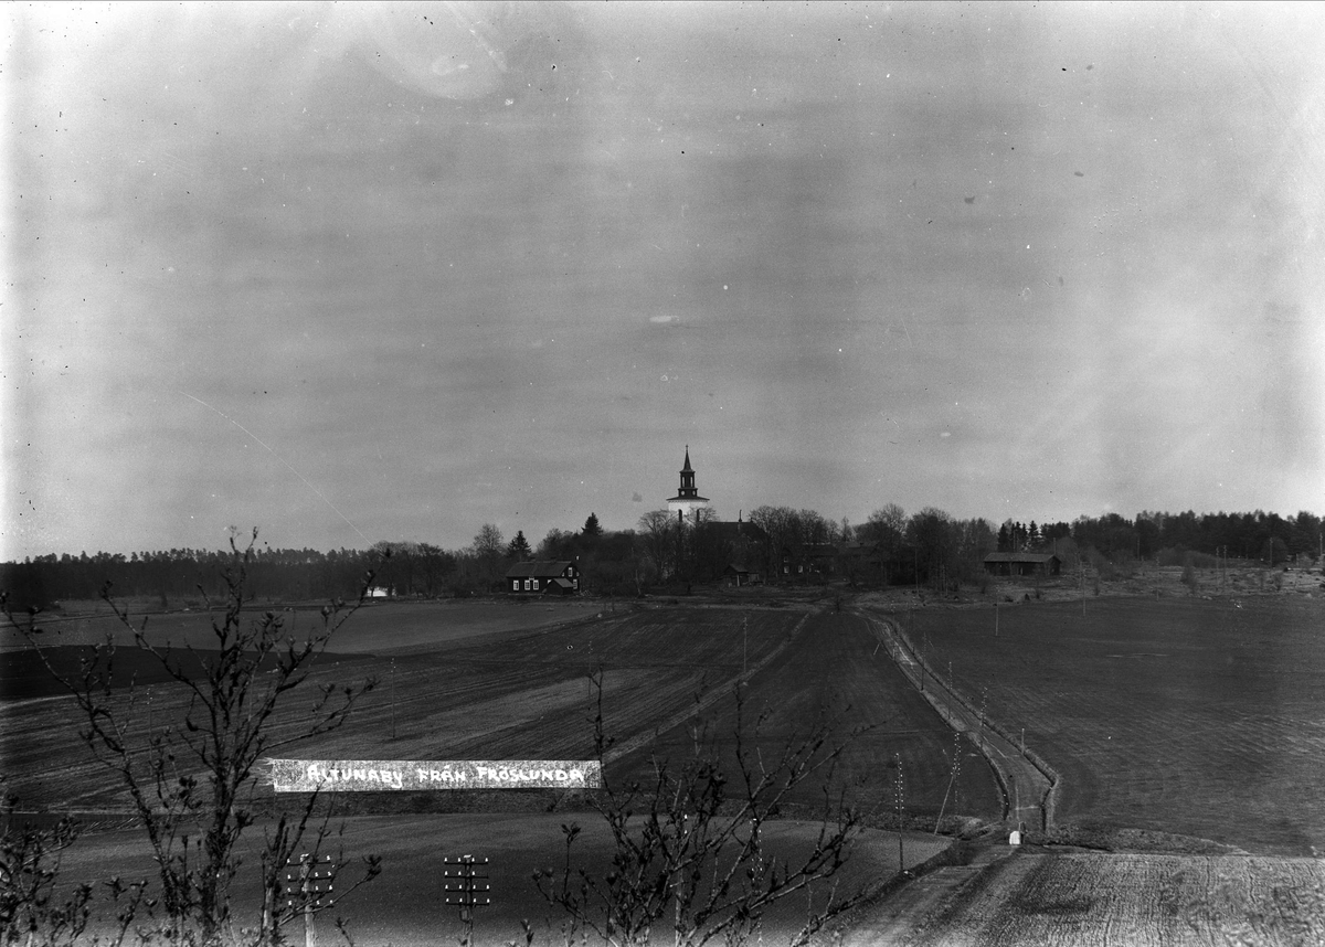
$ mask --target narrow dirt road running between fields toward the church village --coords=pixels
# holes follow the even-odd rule
[[[979,732],[978,727],[988,728],[995,736],[1007,743],[1012,750],[1012,758],[1020,758],[1027,764],[1027,768],[1030,771],[1032,771],[1040,779],[1044,780],[1045,789],[1041,793],[1039,803],[1040,829],[1045,833],[1049,832],[1051,826],[1053,825],[1055,809],[1057,808],[1056,795],[1059,787],[1061,785],[1061,777],[1059,776],[1057,771],[1049,767],[1048,763],[1045,763],[1043,758],[1039,756],[1039,754],[1032,755],[1032,751],[1030,750],[1027,750],[1024,754],[1018,752],[1016,740],[1012,736],[1004,732],[1003,728],[999,727],[986,714],[977,710],[961,691],[958,691],[955,687],[943,683],[942,678],[934,674],[933,669],[922,660],[922,657],[916,652],[916,649],[912,648],[910,641],[906,640],[905,632],[902,632],[901,628],[898,628],[894,621],[874,615],[864,615],[864,617],[871,624],[871,626],[882,628],[880,637],[888,649],[888,657],[893,661],[894,665],[897,665],[897,669],[902,673],[902,675],[908,681],[910,681],[917,690],[920,690],[921,695],[935,710],[935,713],[938,713],[938,715],[943,719],[943,722],[947,723],[947,726],[950,726],[953,730],[966,734],[967,736],[973,736],[973,742],[980,751],[980,755],[984,756],[984,759],[990,764],[990,768],[994,771],[994,777],[998,781],[999,792],[1003,793],[1004,813],[1011,813],[1012,811],[1012,793],[1010,792],[1010,785],[1008,785],[1012,777],[1007,770],[1006,763],[995,759],[995,752],[990,746],[987,746],[987,739],[983,736],[983,734]],[[920,669],[918,672],[917,668]],[[922,678],[920,677],[921,674],[929,674],[930,681],[933,681],[931,687],[925,687],[922,685]],[[951,701],[951,703],[955,705],[955,707],[950,706],[947,701],[942,699],[938,695],[937,693],[938,689],[942,689],[943,694],[946,694],[947,697],[947,701]],[[969,718],[975,718],[978,721],[978,727],[973,727],[967,719],[963,719],[958,709],[961,711],[965,711]],[[1018,816],[1018,822],[1020,822],[1020,812],[1018,812],[1016,816]],[[1007,819],[1007,815],[1004,815],[1004,819]]]

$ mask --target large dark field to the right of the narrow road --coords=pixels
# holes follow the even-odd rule
[[[1060,822],[1325,852],[1325,601],[1088,599],[898,615],[1057,768]],[[984,697],[982,697],[984,695]]]

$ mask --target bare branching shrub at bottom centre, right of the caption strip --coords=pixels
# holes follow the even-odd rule
[[[603,731],[600,675],[595,685],[602,756],[611,739]],[[566,911],[567,943],[592,934],[616,947],[643,946],[666,928],[678,946],[746,943],[761,930],[768,907],[804,894],[810,907],[790,943],[806,944],[832,918],[860,903],[861,893],[840,897],[833,882],[860,819],[828,788],[843,751],[829,743],[832,721],[818,721],[802,739],[790,740],[775,759],[766,760],[758,747],[766,715],[747,731],[739,686],[735,703],[731,763],[719,759],[706,739],[708,724],[697,721],[692,759],[677,767],[655,760],[652,779],[643,783],[620,788],[607,783],[595,808],[615,844],[610,872],[598,875],[576,869],[572,854],[580,828],[575,822],[562,826],[562,869],[538,872],[534,881],[551,905]],[[823,795],[818,837],[807,853],[778,858],[767,845],[767,822],[812,779],[822,783]]]

